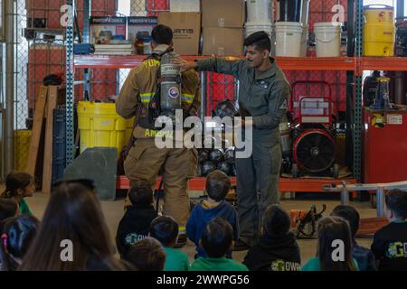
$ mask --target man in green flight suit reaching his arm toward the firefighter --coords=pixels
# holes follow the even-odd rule
[[[245,60],[209,58],[175,61],[181,70],[213,71],[240,80],[239,109],[246,129],[252,128],[252,154],[236,158],[237,210],[241,235],[234,250],[253,246],[260,238],[264,211],[279,203],[281,148],[279,123],[287,112],[290,87],[282,70],[270,57],[267,33],[253,33],[244,41]]]

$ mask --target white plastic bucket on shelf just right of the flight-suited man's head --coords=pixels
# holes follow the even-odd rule
[[[303,27],[297,22],[276,23],[276,56],[301,57]]]

